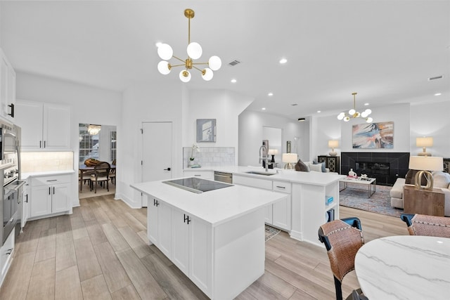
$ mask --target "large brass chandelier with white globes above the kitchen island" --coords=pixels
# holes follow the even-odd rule
[[[207,63],[194,63],[193,60],[196,60],[202,56],[202,46],[200,44],[193,41],[191,43],[191,19],[194,18],[194,11],[191,8],[186,8],[184,10],[184,16],[188,18],[188,58],[186,60],[183,60],[181,58],[177,58],[174,56],[174,51],[172,50],[172,47],[168,44],[160,44],[158,46],[158,56],[162,58],[162,61],[158,63],[158,71],[160,71],[161,74],[167,75],[170,73],[170,70],[172,70],[172,67],[180,67],[184,66],[184,70],[181,70],[179,72],[179,78],[183,82],[188,82],[191,80],[191,72],[189,70],[195,69],[202,73],[202,78],[206,81],[210,81],[214,75],[214,72],[220,69],[222,62],[218,56],[211,56],[210,60],[208,60]],[[177,60],[180,60],[182,63],[179,65],[171,65],[167,60],[175,58]],[[196,65],[207,65],[208,67],[205,67],[204,69],[200,69],[196,67]]]

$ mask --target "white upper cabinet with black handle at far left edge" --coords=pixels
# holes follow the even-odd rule
[[[0,49],[0,115],[10,121],[15,116],[15,71]]]

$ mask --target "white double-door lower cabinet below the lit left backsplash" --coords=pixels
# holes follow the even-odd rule
[[[31,185],[30,217],[70,210],[70,175],[33,177]]]

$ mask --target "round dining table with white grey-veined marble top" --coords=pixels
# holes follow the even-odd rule
[[[364,244],[355,271],[368,299],[450,299],[450,239],[382,237]]]

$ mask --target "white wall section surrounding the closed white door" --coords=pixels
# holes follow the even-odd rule
[[[142,122],[172,122],[172,177],[182,175],[181,146],[181,101],[183,95],[181,82],[161,80],[153,84],[136,84],[124,91],[122,102],[122,129],[120,143],[124,145],[117,151],[116,197],[127,202],[131,207],[141,207],[141,193],[129,185],[142,181]],[[155,145],[160,147],[161,145]],[[119,182],[120,181],[120,182]]]

